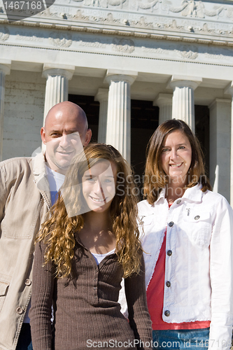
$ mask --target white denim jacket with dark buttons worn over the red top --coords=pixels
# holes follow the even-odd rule
[[[223,196],[201,188],[185,190],[170,209],[165,190],[153,205],[139,203],[146,288],[167,228],[163,320],[210,320],[209,349],[229,349],[233,211]]]

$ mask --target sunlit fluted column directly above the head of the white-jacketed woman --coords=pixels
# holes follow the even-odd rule
[[[172,119],[181,119],[195,132],[194,90],[202,83],[202,78],[172,76],[167,87],[173,89]]]

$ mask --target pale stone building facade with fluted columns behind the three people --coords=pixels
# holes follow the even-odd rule
[[[56,0],[10,23],[2,1],[1,159],[41,146],[51,106],[92,97],[96,139],[135,164],[158,123],[199,127],[213,189],[233,204],[232,47],[232,0]]]

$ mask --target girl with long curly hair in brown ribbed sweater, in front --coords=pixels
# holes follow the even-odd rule
[[[37,239],[34,350],[52,349],[52,305],[55,350],[151,349],[133,186],[129,165],[112,146],[90,144],[74,160]],[[129,320],[118,303],[122,277]]]

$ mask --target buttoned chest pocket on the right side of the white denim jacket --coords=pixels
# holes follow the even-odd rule
[[[211,214],[209,211],[195,210],[184,216],[185,232],[194,244],[209,246],[211,239]]]

